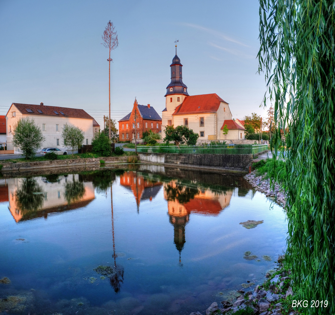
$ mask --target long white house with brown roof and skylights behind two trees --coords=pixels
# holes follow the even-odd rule
[[[12,103],[5,117],[7,142],[12,141],[14,123],[20,118],[29,117],[40,126],[45,137],[41,148],[64,147],[62,131],[65,124],[74,125],[84,131],[85,138],[82,144],[91,144],[95,130],[99,130],[99,124],[83,109],[45,106],[43,103],[40,105]],[[19,153],[16,148],[14,153]]]

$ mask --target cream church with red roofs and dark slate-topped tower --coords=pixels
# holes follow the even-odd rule
[[[193,96],[187,93],[177,48],[170,67],[171,82],[166,87],[165,108],[162,110],[162,137],[165,137],[166,126],[184,125],[199,134],[198,143],[210,140],[244,140],[245,128],[232,119],[226,101],[216,93]],[[225,125],[228,128],[226,135],[223,134]]]

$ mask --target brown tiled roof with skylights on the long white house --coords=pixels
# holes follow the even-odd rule
[[[25,115],[36,115],[36,116],[54,116],[54,117],[74,117],[74,118],[87,118],[93,119],[92,116],[88,115],[83,109],[79,108],[68,108],[68,107],[58,107],[58,106],[46,106],[46,105],[35,105],[35,104],[21,104],[13,103],[15,107]],[[27,111],[30,109],[31,111]],[[41,110],[42,113],[39,113],[37,110]],[[58,115],[54,112],[56,111]],[[63,112],[62,115],[60,112]],[[9,112],[9,110],[8,110]],[[7,114],[8,114],[7,112]],[[6,116],[7,116],[6,114]]]

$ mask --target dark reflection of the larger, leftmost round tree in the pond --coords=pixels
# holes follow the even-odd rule
[[[24,178],[16,190],[15,199],[21,214],[37,211],[43,205],[44,193],[33,177]]]

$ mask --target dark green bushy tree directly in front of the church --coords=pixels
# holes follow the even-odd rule
[[[180,144],[187,143],[188,145],[195,145],[197,143],[199,134],[193,132],[186,126],[166,126],[165,127],[165,138],[163,139],[166,144],[170,141],[174,141],[179,147]]]

